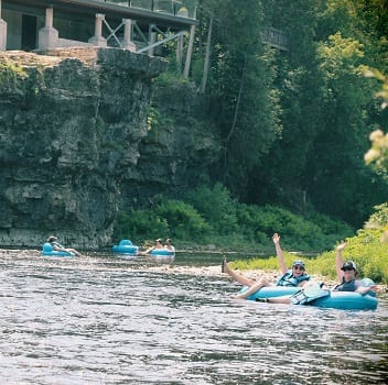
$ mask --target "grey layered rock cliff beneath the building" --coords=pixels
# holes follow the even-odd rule
[[[166,66],[109,48],[0,53],[0,245],[108,245],[119,209],[206,169],[212,135],[185,121],[190,88],[175,105],[161,88],[154,106],[172,118],[150,122]]]

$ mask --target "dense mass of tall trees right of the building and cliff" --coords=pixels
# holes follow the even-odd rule
[[[388,117],[363,75],[388,72],[387,1],[201,0],[197,15],[191,75],[223,148],[212,183],[246,204],[362,227],[388,196],[384,130],[371,136],[379,161],[368,158],[382,168],[363,158]],[[287,51],[263,44],[267,28]]]

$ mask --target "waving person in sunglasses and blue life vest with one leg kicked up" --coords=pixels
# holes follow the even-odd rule
[[[274,243],[274,249],[277,251],[279,266],[282,273],[281,277],[276,283],[276,286],[303,287],[311,279],[310,275],[305,273],[304,262],[301,260],[297,260],[292,263],[291,268],[288,268],[285,265],[283,252],[280,248],[280,235],[278,233],[274,233],[272,240]],[[226,262],[226,257],[224,257],[222,267],[223,273],[228,274],[239,284],[244,286],[249,286],[249,289],[247,292],[238,294],[236,298],[246,299],[248,296],[258,292],[260,288],[271,286],[271,284],[267,279],[254,282],[245,277],[244,275],[230,270]]]

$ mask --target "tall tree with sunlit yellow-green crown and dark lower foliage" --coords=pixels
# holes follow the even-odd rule
[[[362,76],[363,45],[336,33],[321,44],[325,125],[311,152],[306,169],[309,191],[315,207],[360,224],[386,190],[373,184],[373,173],[363,164],[368,103],[371,88]],[[311,175],[311,178],[308,178]]]

